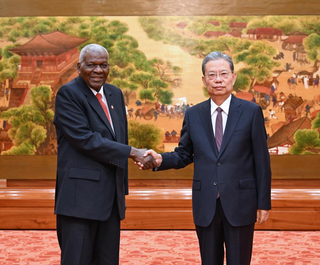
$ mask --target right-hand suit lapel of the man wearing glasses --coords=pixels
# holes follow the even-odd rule
[[[230,141],[230,138],[233,134],[233,131],[236,128],[237,122],[242,112],[242,109],[240,108],[240,106],[241,106],[240,100],[238,100],[238,98],[236,98],[234,95],[231,95],[231,102],[230,102],[230,107],[228,112],[227,124],[222,137],[222,144],[221,144],[220,152],[218,155],[218,159],[220,158],[221,154],[227,147]]]

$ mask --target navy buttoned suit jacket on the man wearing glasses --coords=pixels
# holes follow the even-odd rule
[[[194,162],[193,219],[208,226],[214,216],[219,187],[221,204],[233,226],[256,222],[257,209],[271,209],[271,169],[267,133],[259,105],[232,95],[218,153],[210,99],[185,114],[179,146],[162,153],[157,170],[183,168]]]

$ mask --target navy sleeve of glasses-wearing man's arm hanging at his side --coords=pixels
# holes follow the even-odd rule
[[[267,132],[262,109],[257,106],[252,121],[252,152],[257,177],[258,204],[260,210],[271,209],[271,168],[267,145]]]

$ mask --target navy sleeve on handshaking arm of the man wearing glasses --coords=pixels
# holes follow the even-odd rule
[[[184,168],[193,162],[193,144],[189,134],[188,111],[183,119],[178,147],[173,152],[161,153],[162,163],[156,171]],[[155,171],[155,168],[153,168]]]

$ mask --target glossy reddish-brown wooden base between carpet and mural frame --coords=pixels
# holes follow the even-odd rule
[[[194,229],[191,189],[132,188],[122,229]],[[0,189],[0,229],[55,229],[54,189]],[[320,189],[272,189],[256,229],[320,230]]]

